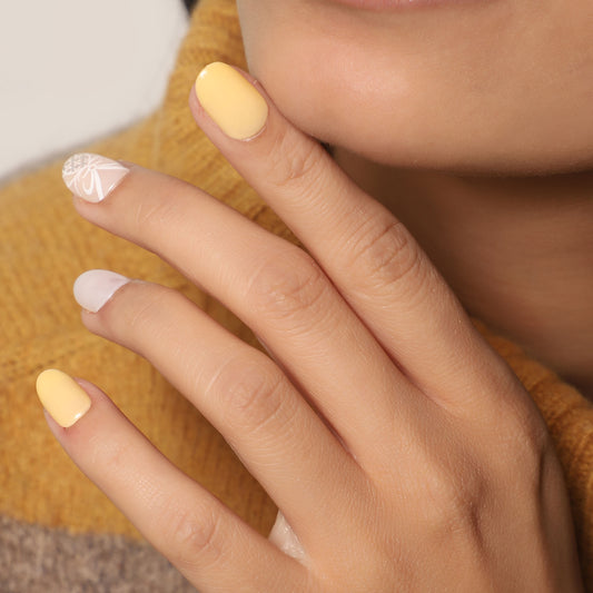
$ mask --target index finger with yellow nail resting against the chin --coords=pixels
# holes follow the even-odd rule
[[[257,81],[210,65],[198,76],[190,107],[425,393],[459,402],[463,394],[473,397],[485,376],[504,372],[411,234],[296,129]],[[470,362],[480,366],[475,373],[467,372]]]

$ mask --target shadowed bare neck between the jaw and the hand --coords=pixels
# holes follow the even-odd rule
[[[593,398],[593,172],[472,178],[335,156],[407,226],[470,315]]]

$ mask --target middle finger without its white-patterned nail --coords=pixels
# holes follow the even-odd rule
[[[237,314],[357,457],[378,433],[393,434],[396,413],[399,427],[402,416],[418,413],[423,398],[302,249],[204,191],[137,166],[101,204],[75,204],[87,219],[157,253]]]

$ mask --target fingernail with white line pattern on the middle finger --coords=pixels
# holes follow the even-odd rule
[[[63,182],[79,198],[98,202],[121,182],[130,170],[117,160],[100,155],[73,155],[62,169]]]

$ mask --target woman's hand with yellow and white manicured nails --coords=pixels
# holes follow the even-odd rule
[[[528,395],[406,229],[247,80],[265,100],[249,95],[255,137],[207,96],[191,110],[308,253],[137,166],[67,178],[105,198],[75,198],[81,216],[171,261],[269,352],[165,287],[79,280],[86,326],[151,360],[276,502],[270,538],[88,383],[90,409],[69,428],[49,419],[55,435],[204,592],[580,590],[562,472]]]

